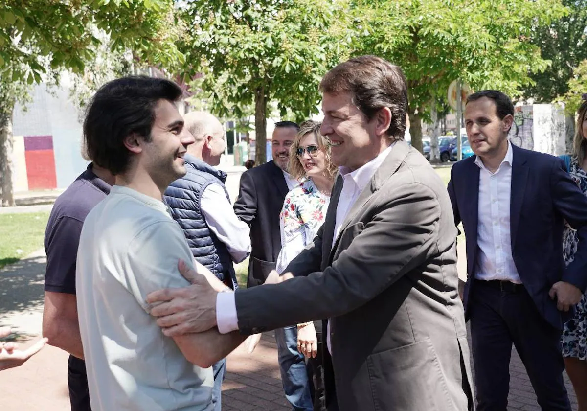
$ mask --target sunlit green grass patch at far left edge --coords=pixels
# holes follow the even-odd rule
[[[0,214],[0,268],[43,247],[49,213]]]

